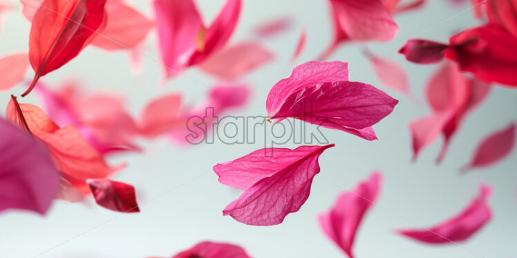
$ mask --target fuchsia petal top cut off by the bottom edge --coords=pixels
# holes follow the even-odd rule
[[[204,241],[172,258],[251,258],[240,246]]]

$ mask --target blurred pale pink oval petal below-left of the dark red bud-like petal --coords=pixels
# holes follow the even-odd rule
[[[402,92],[408,96],[413,96],[409,87],[406,71],[395,61],[375,56],[367,52],[367,58],[373,66],[373,71],[381,83],[397,92]]]

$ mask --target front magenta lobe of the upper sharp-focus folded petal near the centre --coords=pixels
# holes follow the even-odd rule
[[[353,81],[323,83],[293,92],[272,119],[293,117],[350,132],[373,126],[389,115],[397,103],[396,99],[368,84]]]

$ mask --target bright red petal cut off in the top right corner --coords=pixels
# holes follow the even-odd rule
[[[489,21],[517,37],[517,0],[487,0],[486,4]]]

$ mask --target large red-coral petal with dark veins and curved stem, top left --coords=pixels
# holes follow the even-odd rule
[[[32,19],[29,59],[36,72],[27,95],[39,77],[77,56],[104,28],[106,0],[45,0]]]

